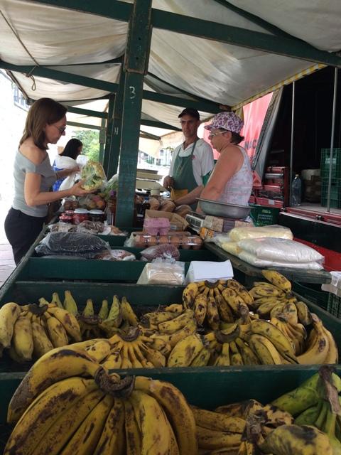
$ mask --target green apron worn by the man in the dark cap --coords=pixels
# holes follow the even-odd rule
[[[197,188],[197,182],[193,175],[193,154],[195,151],[195,145],[197,140],[194,142],[192,152],[188,156],[178,156],[175,158],[173,167],[174,185],[171,191],[171,198],[176,200],[181,196],[185,196],[190,191]],[[179,152],[180,153],[180,152]],[[197,203],[191,205],[195,210]]]

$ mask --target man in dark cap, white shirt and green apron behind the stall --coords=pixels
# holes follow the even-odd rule
[[[214,166],[213,152],[207,142],[197,137],[197,129],[200,125],[197,109],[186,107],[178,117],[185,141],[173,152],[169,175],[164,178],[163,186],[171,189],[171,198],[175,200],[176,205],[192,204],[195,198],[194,201],[189,202],[186,195],[194,190],[199,196],[203,188],[203,180]],[[195,206],[196,203],[193,208]]]

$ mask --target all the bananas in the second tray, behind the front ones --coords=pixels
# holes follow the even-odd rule
[[[97,361],[110,369],[337,363],[332,333],[291,294],[291,282],[271,270],[264,277],[249,291],[234,279],[190,283],[183,303],[138,315],[125,296],[104,299],[98,314],[92,299],[79,314],[70,291],[64,304],[56,293],[50,303],[9,303],[0,309],[0,343],[17,361],[72,341],[89,351],[100,343]]]

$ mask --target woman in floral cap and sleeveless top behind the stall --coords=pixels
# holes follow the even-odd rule
[[[240,135],[243,126],[244,122],[234,112],[220,112],[205,127],[220,156],[200,198],[248,205],[253,179],[247,151],[238,145],[244,139]]]

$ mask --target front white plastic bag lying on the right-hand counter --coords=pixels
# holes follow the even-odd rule
[[[244,239],[238,242],[242,250],[260,259],[277,262],[322,262],[319,252],[294,240],[278,238]]]

